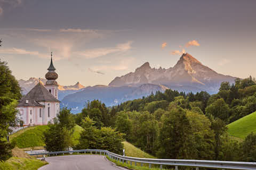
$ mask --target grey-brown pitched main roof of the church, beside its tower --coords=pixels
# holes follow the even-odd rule
[[[28,100],[28,104],[26,104],[26,100]],[[18,106],[44,106],[39,104],[39,101],[59,101],[44,87],[41,81],[20,100]]]

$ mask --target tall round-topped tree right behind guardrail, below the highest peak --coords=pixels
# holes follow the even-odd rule
[[[190,136],[193,133],[186,111],[181,107],[166,112],[159,129],[158,158],[189,159]]]

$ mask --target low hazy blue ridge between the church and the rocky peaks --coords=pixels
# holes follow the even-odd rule
[[[135,86],[103,86],[97,85],[86,87],[81,91],[65,96],[60,106],[71,108],[73,113],[79,113],[86,105],[87,101],[98,99],[105,103],[106,106],[115,106],[127,100],[137,99],[148,96],[151,92],[164,92],[168,89],[165,86],[157,84],[142,84]]]

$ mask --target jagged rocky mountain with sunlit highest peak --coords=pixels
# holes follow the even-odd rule
[[[219,74],[203,65],[190,54],[182,54],[174,67],[169,69],[151,68],[146,62],[135,72],[116,77],[109,86],[139,86],[145,83],[163,84],[178,91],[208,91],[214,94],[223,81],[234,82],[236,78]]]

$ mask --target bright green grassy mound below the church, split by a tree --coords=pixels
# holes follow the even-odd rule
[[[49,130],[49,127],[47,125],[26,128],[12,134],[10,136],[10,140],[15,141],[19,148],[42,147],[45,145],[43,132],[46,130]],[[81,131],[81,126],[76,125],[73,134],[75,144],[78,143]]]

